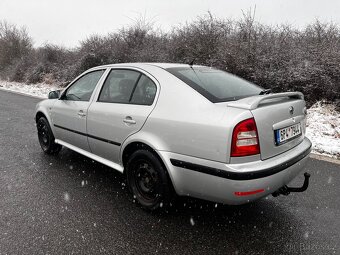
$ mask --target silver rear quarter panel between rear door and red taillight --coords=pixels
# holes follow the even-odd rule
[[[250,111],[214,104],[161,68],[152,73],[161,85],[157,105],[129,140],[144,136],[159,151],[229,162],[233,128],[252,117]]]

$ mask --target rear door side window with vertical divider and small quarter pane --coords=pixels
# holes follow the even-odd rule
[[[147,76],[133,70],[112,70],[107,77],[98,102],[152,105],[156,85]]]

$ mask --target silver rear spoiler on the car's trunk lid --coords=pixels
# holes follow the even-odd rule
[[[237,101],[233,101],[227,103],[227,106],[242,108],[247,110],[254,110],[256,109],[263,101],[269,99],[276,99],[276,98],[292,98],[292,99],[304,99],[304,96],[301,92],[284,92],[284,93],[275,93],[275,94],[268,94],[268,95],[258,95],[258,96],[251,96],[246,97]]]

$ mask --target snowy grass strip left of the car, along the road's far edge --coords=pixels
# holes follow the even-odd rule
[[[25,84],[18,82],[8,82],[0,80],[0,89],[6,89],[10,91],[20,92],[23,94],[37,96],[41,98],[47,98],[48,93],[52,90],[60,89],[56,85],[50,85],[45,83],[38,84]]]

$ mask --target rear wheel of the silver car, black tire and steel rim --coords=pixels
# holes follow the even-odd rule
[[[154,153],[134,152],[126,164],[127,184],[138,203],[147,210],[166,210],[174,198],[168,172]]]

